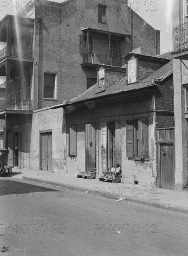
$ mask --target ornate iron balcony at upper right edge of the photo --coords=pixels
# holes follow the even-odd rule
[[[172,54],[173,58],[188,60],[188,23],[174,27],[174,52]]]

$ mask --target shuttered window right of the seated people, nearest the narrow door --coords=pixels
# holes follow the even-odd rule
[[[127,121],[127,157],[149,158],[148,118]]]

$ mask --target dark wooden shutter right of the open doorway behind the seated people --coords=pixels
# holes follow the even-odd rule
[[[121,121],[115,122],[115,163],[122,165],[122,133]]]

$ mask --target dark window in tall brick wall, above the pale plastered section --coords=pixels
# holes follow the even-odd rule
[[[56,74],[44,74],[44,98],[55,98]]]

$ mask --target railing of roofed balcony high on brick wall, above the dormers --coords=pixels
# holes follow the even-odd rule
[[[83,64],[106,64],[121,67],[125,64],[123,58],[109,57],[101,54],[83,54]]]

